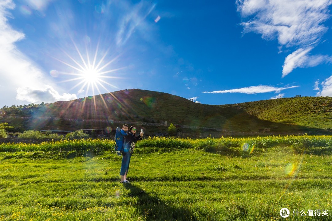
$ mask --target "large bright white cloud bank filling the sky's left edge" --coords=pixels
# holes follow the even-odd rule
[[[45,97],[48,100],[44,102],[54,102],[61,99],[71,99],[76,95],[58,95],[58,92],[54,90],[52,81],[48,78],[48,74],[38,67],[38,65],[23,54],[16,46],[15,43],[24,39],[25,35],[13,29],[8,24],[9,14],[8,10],[14,9],[15,4],[12,0],[0,1],[0,76],[1,84],[6,87],[0,87],[0,93],[6,94],[1,96],[1,102],[4,104],[10,102],[14,103],[15,94],[19,100],[25,100],[30,102],[38,102],[38,94],[41,97]],[[22,91],[25,88],[27,91]],[[51,89],[50,89],[51,88]],[[42,93],[33,93],[33,91],[48,91],[53,94],[54,100],[50,100],[52,96],[45,96]],[[29,94],[33,97],[29,98]],[[41,101],[42,102],[42,101]]]

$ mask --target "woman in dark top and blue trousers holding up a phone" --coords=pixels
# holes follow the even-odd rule
[[[141,140],[143,137],[143,131],[139,134],[138,137],[135,136],[136,127],[131,126],[129,128],[129,134],[124,139],[123,153],[122,153],[122,163],[120,169],[121,183],[130,183],[127,181],[127,173],[129,169],[130,157],[135,147],[137,140]]]

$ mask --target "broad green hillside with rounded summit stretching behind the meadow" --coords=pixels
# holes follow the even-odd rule
[[[229,105],[206,105],[163,92],[130,89],[95,97],[25,108],[5,108],[18,128],[75,129],[112,127],[114,121],[173,123],[234,132],[291,133],[332,129],[331,97],[296,97]],[[89,121],[86,121],[89,120]],[[154,128],[154,131],[160,127]],[[189,130],[189,129],[188,129]]]

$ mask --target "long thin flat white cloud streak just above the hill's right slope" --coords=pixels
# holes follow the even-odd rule
[[[273,87],[267,85],[260,85],[260,86],[250,86],[250,87],[243,87],[231,90],[217,90],[217,91],[204,91],[203,93],[245,93],[245,94],[256,94],[256,93],[267,93],[267,92],[276,92],[279,93],[282,90],[294,88],[299,86],[290,86],[290,87]]]

